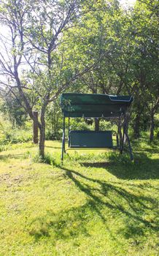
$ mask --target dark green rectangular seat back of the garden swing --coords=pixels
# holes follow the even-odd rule
[[[113,148],[112,131],[71,131],[69,148]]]

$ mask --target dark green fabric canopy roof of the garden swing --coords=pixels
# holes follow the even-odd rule
[[[61,94],[61,108],[66,117],[119,117],[125,113],[131,102],[131,96]]]

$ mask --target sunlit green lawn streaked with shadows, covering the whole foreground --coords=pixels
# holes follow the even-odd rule
[[[69,151],[46,142],[0,153],[0,255],[159,255],[159,146],[133,145],[135,162],[109,151]]]

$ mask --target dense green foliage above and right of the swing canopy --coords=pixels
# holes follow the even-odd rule
[[[97,64],[71,91],[133,95],[131,126],[139,138],[141,130],[154,129],[159,106],[158,4],[139,1],[133,9],[123,10],[117,1],[100,1],[93,7],[82,17],[82,28],[69,31],[73,43],[68,50],[73,64],[81,59],[82,65],[93,59]]]

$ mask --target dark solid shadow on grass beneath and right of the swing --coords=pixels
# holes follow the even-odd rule
[[[147,180],[159,178],[159,158],[151,159],[144,153],[136,154],[134,158],[135,162],[131,162],[125,155],[110,154],[109,162],[81,162],[81,165],[106,168],[109,173],[122,179]]]

